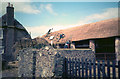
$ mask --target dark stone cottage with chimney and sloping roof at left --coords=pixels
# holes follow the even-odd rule
[[[0,18],[0,53],[7,61],[15,60],[13,45],[22,38],[31,36],[27,30],[14,18],[13,4],[8,3],[6,14]]]

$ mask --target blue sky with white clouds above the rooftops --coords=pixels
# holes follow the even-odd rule
[[[44,35],[50,28],[57,31],[118,17],[118,0],[109,2],[23,0],[11,3],[15,8],[15,18],[29,33],[31,32],[32,38]],[[0,16],[2,16],[6,12],[7,2],[2,2],[0,5],[2,6]]]

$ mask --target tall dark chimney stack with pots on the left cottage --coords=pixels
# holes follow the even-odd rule
[[[8,3],[7,6],[7,26],[14,26],[14,7],[13,4]]]

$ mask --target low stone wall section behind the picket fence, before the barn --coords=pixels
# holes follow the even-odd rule
[[[91,49],[63,49],[57,50],[61,53],[61,56],[65,56],[66,58],[83,58],[83,59],[94,59],[95,53]]]

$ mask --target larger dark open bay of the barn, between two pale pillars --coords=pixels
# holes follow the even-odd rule
[[[102,38],[95,40],[96,58],[100,60],[115,60],[115,38]]]

